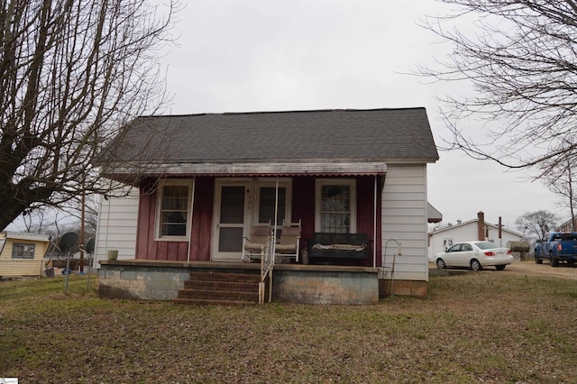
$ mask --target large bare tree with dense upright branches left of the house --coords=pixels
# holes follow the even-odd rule
[[[8,0],[0,5],[0,228],[99,182],[102,148],[165,101],[160,49],[174,2]],[[159,18],[159,14],[164,17]],[[102,159],[102,158],[100,158]]]

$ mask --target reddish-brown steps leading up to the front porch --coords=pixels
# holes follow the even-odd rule
[[[258,304],[260,280],[254,273],[191,272],[174,302],[199,306]]]

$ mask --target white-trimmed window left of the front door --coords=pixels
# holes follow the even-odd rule
[[[193,180],[166,180],[158,190],[157,236],[185,238],[189,233]]]

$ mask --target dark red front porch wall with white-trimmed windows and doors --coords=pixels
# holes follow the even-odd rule
[[[243,261],[243,239],[254,226],[269,224],[278,236],[283,223],[298,222],[298,254],[316,233],[359,233],[368,249],[357,264],[380,266],[381,175],[211,175],[148,183],[140,187],[138,260]]]

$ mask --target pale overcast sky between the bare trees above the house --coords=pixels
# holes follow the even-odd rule
[[[162,59],[173,96],[165,113],[425,106],[439,144],[447,132],[436,97],[468,89],[406,73],[452,48],[418,25],[446,7],[435,0],[188,2],[174,29],[178,46]],[[461,152],[439,155],[428,167],[428,200],[444,223],[483,211],[513,229],[524,213],[559,213],[557,197],[527,174]]]

